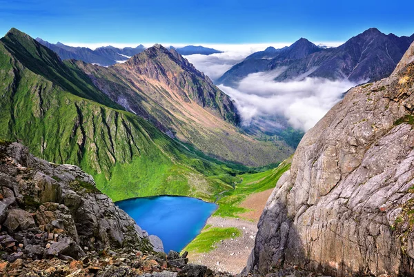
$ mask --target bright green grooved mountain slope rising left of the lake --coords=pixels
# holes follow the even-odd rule
[[[80,165],[114,201],[156,194],[214,200],[246,167],[170,139],[98,90],[74,63],[18,30],[0,39],[0,138]]]

